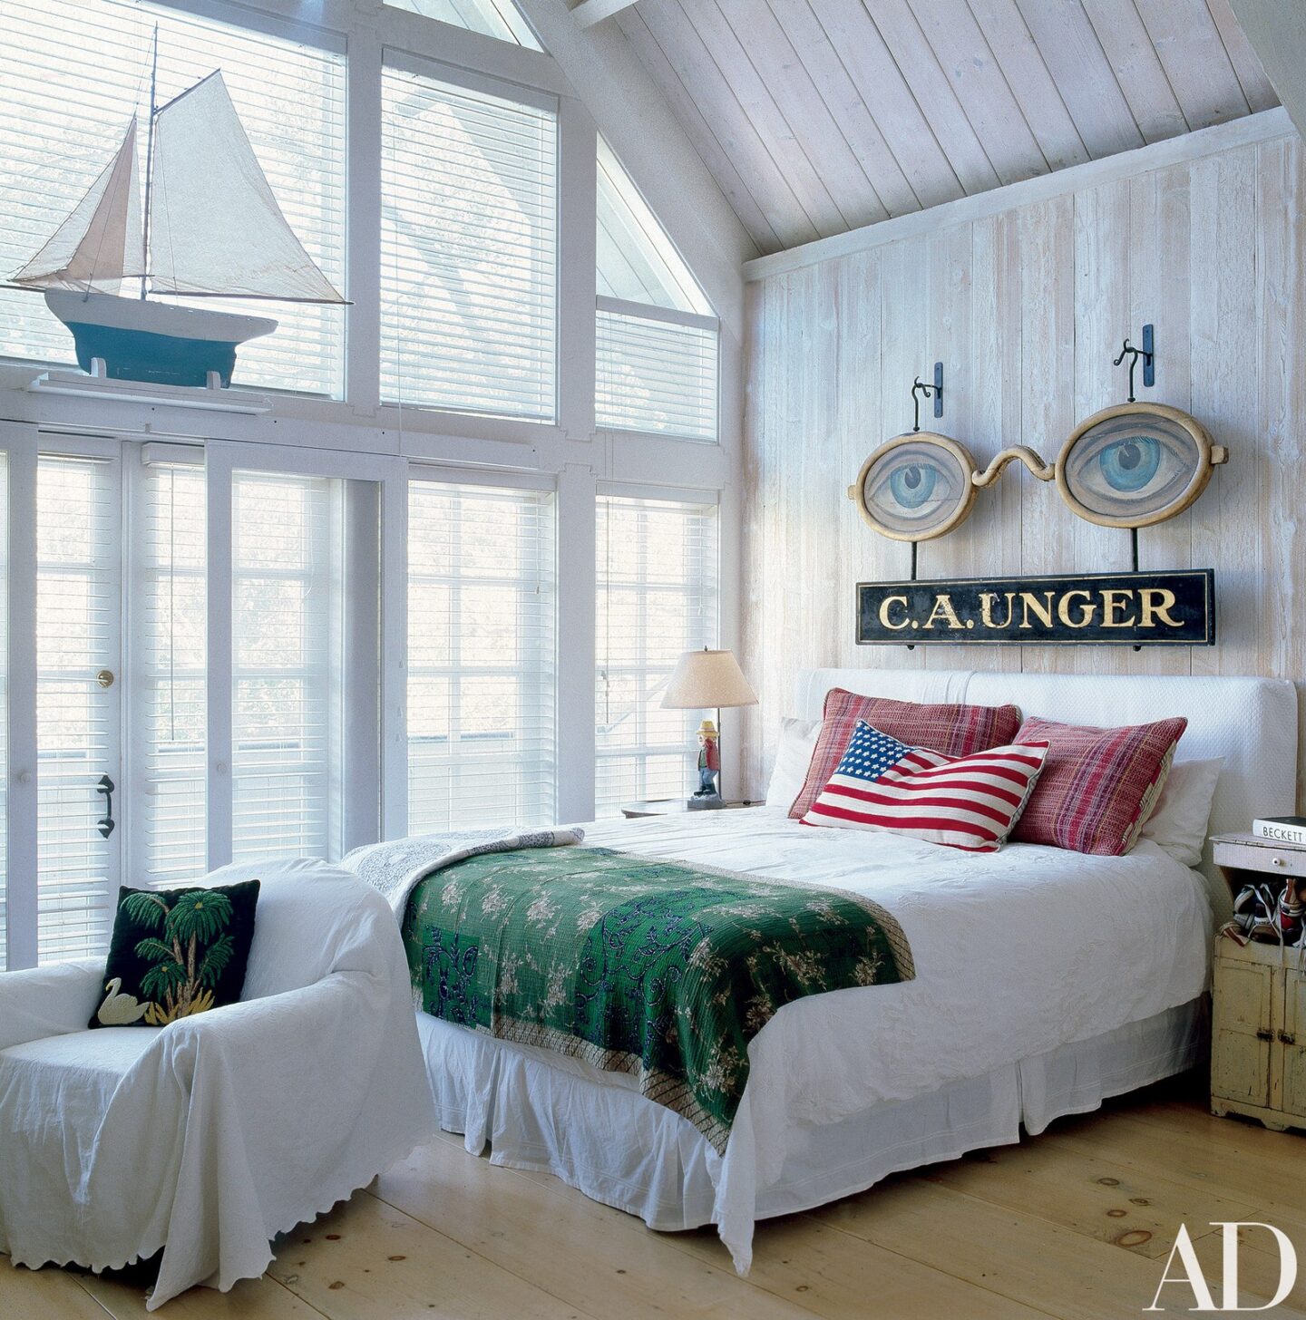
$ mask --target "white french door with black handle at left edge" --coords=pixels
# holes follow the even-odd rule
[[[121,874],[121,451],[0,432],[4,965],[99,952]]]

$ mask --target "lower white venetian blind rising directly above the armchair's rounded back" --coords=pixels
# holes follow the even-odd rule
[[[318,477],[232,475],[235,861],[338,851],[339,496]]]

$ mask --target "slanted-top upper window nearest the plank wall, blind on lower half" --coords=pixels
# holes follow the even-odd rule
[[[596,421],[714,441],[720,325],[602,137],[597,220]]]

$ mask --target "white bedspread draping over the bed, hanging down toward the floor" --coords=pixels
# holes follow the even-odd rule
[[[586,845],[853,890],[889,908],[911,942],[914,981],[800,999],[754,1039],[730,1143],[712,1170],[713,1217],[745,1269],[757,1192],[804,1125],[1140,1022],[1207,982],[1204,882],[1146,841],[1120,858],[1029,843],[960,853],[757,808],[605,821],[586,826]]]

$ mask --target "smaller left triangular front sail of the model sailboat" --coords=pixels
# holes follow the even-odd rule
[[[118,153],[12,282],[32,289],[116,293],[124,279],[144,273],[143,263],[132,119]]]

